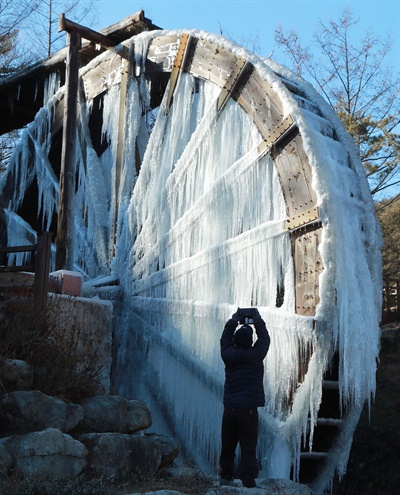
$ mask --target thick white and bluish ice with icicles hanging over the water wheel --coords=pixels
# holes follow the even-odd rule
[[[147,42],[157,34],[131,40],[137,74],[143,74]],[[123,308],[116,327],[116,390],[148,400],[154,406],[155,424],[162,421],[199,463],[212,467],[218,459],[222,413],[220,334],[237,306],[258,306],[271,336],[265,361],[267,404],[260,411],[260,453],[268,476],[288,478],[291,466],[295,473],[298,469],[302,433],[308,429],[312,433],[332,348],[341,357],[342,406],[355,408],[354,421],[375,392],[380,231],[354,143],[313,88],[287,69],[222,38],[194,34],[208,36],[249,59],[271,83],[285,113],[293,116],[300,129],[323,224],[320,252],[325,269],[316,318],[294,312],[291,243],[283,225],[285,203],[272,159],[257,152],[258,131],[233,101],[218,115],[219,88],[190,74],[180,77],[169,112],[164,102],[150,111],[149,83],[144,77],[129,80],[118,191],[114,164],[119,86],[104,97],[102,132],[110,146],[101,157],[88,131],[91,106],[81,102],[75,269],[93,278],[107,275],[111,262],[120,279]],[[82,71],[107,56],[99,56]],[[323,119],[300,108],[282,77],[297,84],[320,108],[339,141],[321,133]],[[28,127],[11,166],[18,187],[10,210],[18,209],[26,186],[36,176],[45,228],[57,201],[57,180],[46,153],[51,115],[61,93],[49,100]],[[28,140],[35,147],[34,169],[24,165],[28,163]],[[138,157],[140,174],[136,177]],[[113,233],[117,202],[118,223]],[[12,225],[9,222],[9,235]],[[113,236],[114,258],[110,254]],[[278,286],[285,288],[279,308]],[[298,384],[299,360],[311,349],[308,372]],[[289,409],[288,390],[292,388],[295,393]],[[348,438],[343,436],[336,449],[332,469],[343,471]]]

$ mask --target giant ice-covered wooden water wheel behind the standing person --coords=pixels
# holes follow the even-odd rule
[[[222,367],[219,330],[204,327],[258,306],[272,338],[260,455],[268,475],[322,493],[343,472],[378,348],[380,241],[354,144],[303,80],[198,31],[134,36],[80,81],[75,223],[87,244],[101,234],[74,262],[91,277],[111,265],[124,287],[117,388],[137,393],[126,374],[141,373],[138,390],[215,464]],[[49,112],[62,104],[61,89]],[[104,210],[85,196],[96,160]]]

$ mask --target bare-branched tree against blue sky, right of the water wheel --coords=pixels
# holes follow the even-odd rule
[[[400,183],[400,77],[387,64],[392,41],[367,32],[353,44],[358,23],[349,10],[319,26],[312,48],[292,30],[275,30],[275,41],[310,78],[353,136],[372,194]]]

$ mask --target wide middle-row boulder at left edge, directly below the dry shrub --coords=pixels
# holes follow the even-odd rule
[[[0,431],[28,433],[45,428],[71,431],[83,418],[83,409],[38,390],[17,391],[0,398]]]

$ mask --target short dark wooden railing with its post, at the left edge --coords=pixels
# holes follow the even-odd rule
[[[0,247],[0,254],[32,252],[34,264],[19,266],[0,266],[0,276],[2,273],[12,272],[33,272],[32,293],[35,308],[45,309],[47,306],[47,293],[49,287],[49,272],[51,262],[51,232],[40,232],[37,235],[37,244],[27,246],[7,246]],[[26,287],[27,285],[25,285]],[[28,285],[29,287],[29,285]]]

